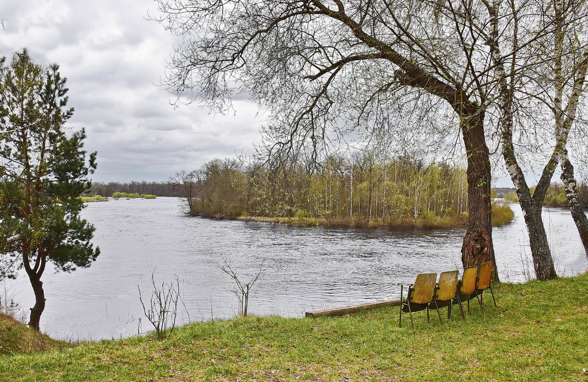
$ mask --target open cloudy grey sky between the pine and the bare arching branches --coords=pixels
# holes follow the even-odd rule
[[[260,143],[251,102],[236,115],[169,104],[155,86],[165,75],[173,36],[156,22],[149,0],[0,0],[0,55],[28,48],[38,63],[58,63],[68,78],[68,125],[86,128],[98,151],[95,181],[166,180],[214,158],[250,153]]]

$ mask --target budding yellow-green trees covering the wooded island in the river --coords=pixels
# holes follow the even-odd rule
[[[318,167],[291,162],[279,170],[215,159],[176,173],[172,183],[198,216],[352,226],[455,226],[466,220],[465,170],[409,156],[331,157]]]

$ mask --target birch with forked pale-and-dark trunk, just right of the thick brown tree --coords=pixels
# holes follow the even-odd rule
[[[586,77],[588,61],[582,59],[582,52],[587,45],[578,33],[588,21],[585,4],[584,0],[556,0],[530,7],[515,1],[483,0],[483,3],[491,17],[485,38],[492,49],[497,74],[502,155],[523,209],[536,277],[552,279],[557,274],[541,213],[557,162],[566,150]],[[509,18],[500,14],[500,9],[505,7],[510,8]],[[533,22],[522,22],[524,19]],[[570,55],[576,59],[566,58]],[[568,61],[567,69],[570,69],[569,61],[573,62],[568,72],[564,61]],[[549,111],[545,113],[544,108]],[[549,112],[553,113],[552,130],[535,127],[526,142],[528,148],[521,139],[515,140],[516,130],[527,132],[529,125],[545,125]],[[546,142],[542,136],[553,137],[553,143]],[[540,162],[537,158],[543,156],[533,152],[538,149],[547,153],[547,158],[532,192],[520,162],[525,156],[534,156],[534,162]]]

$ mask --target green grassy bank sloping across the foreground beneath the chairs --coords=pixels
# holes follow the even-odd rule
[[[487,296],[489,297],[489,296]],[[588,275],[501,284],[498,307],[472,304],[440,325],[398,307],[320,319],[239,317],[166,340],[83,343],[0,357],[10,381],[586,381]],[[489,302],[489,301],[488,301]],[[445,309],[443,310],[445,312]]]

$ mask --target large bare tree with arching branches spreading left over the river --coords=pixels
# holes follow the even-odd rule
[[[427,131],[447,135],[454,123],[465,144],[463,264],[494,259],[484,125],[492,65],[480,31],[463,28],[469,2],[160,0],[159,8],[159,21],[186,41],[169,72],[179,100],[193,91],[189,101],[222,111],[235,92],[249,92],[272,116],[270,153],[308,148],[312,157],[365,126],[394,135],[395,110],[418,122],[413,133],[449,115]]]

